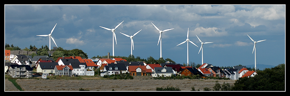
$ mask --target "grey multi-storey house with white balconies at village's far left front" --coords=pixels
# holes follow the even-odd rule
[[[7,73],[12,78],[29,78],[32,77],[33,69],[29,65],[11,65]]]

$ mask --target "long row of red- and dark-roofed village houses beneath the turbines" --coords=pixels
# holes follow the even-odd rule
[[[151,75],[201,75],[219,76],[237,80],[240,77],[254,76],[255,71],[248,71],[246,66],[234,66],[221,69],[218,66],[204,63],[198,68],[183,66],[176,63],[146,64],[145,62],[128,62],[122,58],[95,58],[59,57],[56,61],[47,56],[14,55],[11,62],[5,63],[5,73],[12,77],[31,77],[33,68],[43,75],[94,75],[94,69],[101,70],[101,76],[128,73],[132,76]],[[30,68],[29,68],[30,67]],[[247,75],[247,76],[246,76]]]

